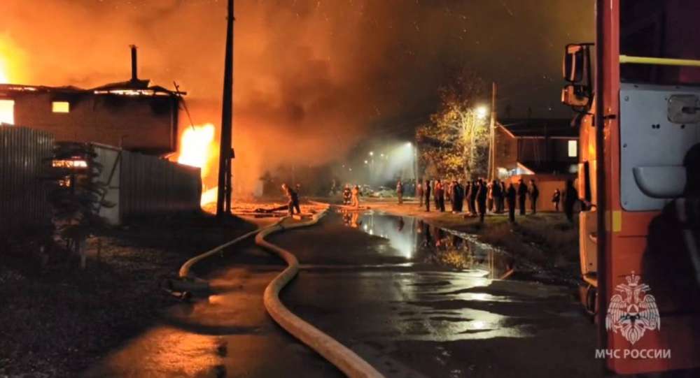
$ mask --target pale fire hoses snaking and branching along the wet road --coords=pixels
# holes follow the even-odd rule
[[[318,328],[307,323],[300,317],[297,317],[293,312],[290,312],[279,299],[279,292],[286,284],[296,277],[299,272],[299,261],[297,261],[296,256],[288,250],[267,242],[265,236],[292,228],[312,226],[318,223],[327,212],[328,208],[313,215],[309,221],[300,221],[286,225],[283,224],[283,222],[290,217],[284,217],[271,226],[241,235],[230,242],[226,242],[223,245],[189,259],[180,268],[179,279],[167,279],[167,283],[162,286],[164,286],[165,289],[169,289],[169,291],[181,293],[181,298],[189,298],[190,295],[188,293],[209,292],[209,282],[190,275],[190,269],[195,263],[207,259],[207,257],[213,256],[214,254],[223,253],[225,248],[231,247],[253,234],[257,234],[255,235],[256,245],[273,252],[287,263],[287,268],[272,279],[272,282],[267,285],[265,293],[263,294],[263,303],[270,317],[288,333],[306,344],[307,347],[314,349],[316,353],[323,356],[323,358],[335,365],[348,377],[383,377],[372,365],[363,360],[363,358],[360,358],[360,356],[351,351],[348,347],[345,347],[337,340],[321,332],[321,330],[318,330]]]

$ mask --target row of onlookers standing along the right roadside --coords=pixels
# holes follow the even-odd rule
[[[403,202],[403,186],[399,180],[396,184],[398,203]],[[484,178],[467,181],[462,184],[460,180],[424,180],[416,184],[416,199],[419,207],[426,208],[430,212],[430,204],[435,210],[446,211],[445,202],[449,202],[454,213],[465,212],[466,217],[479,217],[484,221],[487,212],[502,214],[507,205],[508,218],[515,221],[515,213],[526,215],[526,204],[529,202],[531,214],[537,213],[537,203],[540,197],[540,189],[535,180],[526,184],[519,180],[517,184],[506,184],[501,180],[488,181]],[[578,199],[578,194],[573,187],[573,181],[568,180],[566,189],[562,194],[559,189],[552,194],[552,203],[556,211],[559,211],[559,203],[563,197],[563,209],[569,221],[573,221],[573,208]]]

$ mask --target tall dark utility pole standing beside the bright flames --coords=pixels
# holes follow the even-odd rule
[[[231,212],[231,160],[234,158],[233,132],[233,0],[228,0],[226,27],[226,57],[223,74],[223,106],[221,109],[221,142],[219,143],[219,175],[216,197],[216,216]]]

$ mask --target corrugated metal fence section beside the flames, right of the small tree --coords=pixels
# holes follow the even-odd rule
[[[200,168],[136,152],[122,151],[120,159],[121,219],[200,210]]]

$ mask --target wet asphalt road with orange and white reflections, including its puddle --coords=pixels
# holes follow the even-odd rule
[[[598,377],[595,330],[571,289],[413,218],[366,212],[272,235],[302,272],[290,310],[387,377]],[[216,293],[169,309],[87,377],[337,377],[267,316],[281,261],[253,246],[210,261]],[[525,279],[524,279],[525,278]]]

